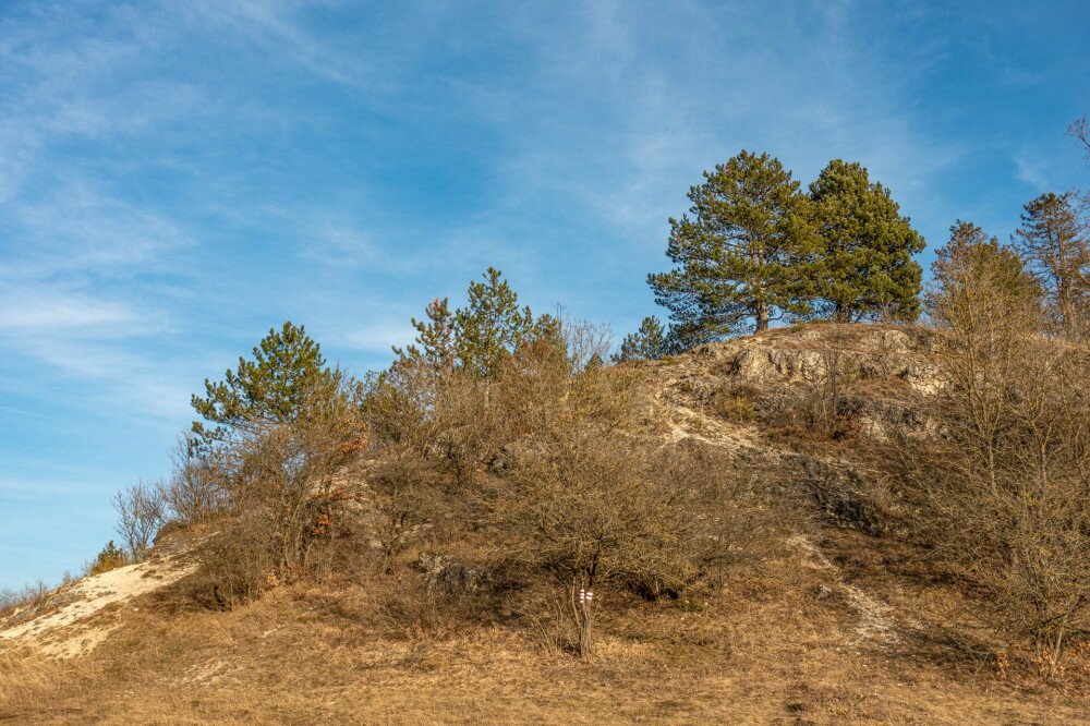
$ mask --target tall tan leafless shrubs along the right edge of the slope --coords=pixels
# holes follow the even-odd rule
[[[922,533],[1053,677],[1090,628],[1090,358],[1041,334],[1038,289],[1016,256],[953,245],[928,297],[941,436],[903,439],[900,461],[928,505]]]

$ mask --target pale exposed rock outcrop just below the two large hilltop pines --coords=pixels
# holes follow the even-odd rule
[[[762,407],[799,406],[808,396],[821,402],[835,373],[835,406],[851,435],[881,440],[892,426],[925,434],[921,403],[938,389],[930,348],[925,329],[879,325],[783,328],[702,346],[640,364],[644,422],[674,440],[697,439],[775,467],[783,485],[812,497],[826,522],[876,534],[896,518],[867,495],[864,474],[820,437],[804,446],[770,438]],[[726,410],[724,399],[742,403]]]

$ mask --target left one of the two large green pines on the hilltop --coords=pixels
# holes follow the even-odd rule
[[[689,338],[719,339],[750,320],[761,331],[809,312],[819,242],[811,203],[777,159],[743,150],[705,171],[689,199],[692,217],[669,220],[666,254],[678,267],[647,276]]]

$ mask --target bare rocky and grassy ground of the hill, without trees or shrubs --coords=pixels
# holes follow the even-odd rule
[[[1005,677],[971,596],[907,536],[911,497],[873,467],[894,429],[931,435],[929,348],[919,329],[808,326],[622,366],[647,433],[726,452],[798,517],[712,591],[604,593],[592,657],[550,649],[547,622],[518,613],[470,627],[322,582],[209,609],[186,595],[207,533],[174,532],[146,562],[0,619],[0,718],[1086,723],[1077,682]]]

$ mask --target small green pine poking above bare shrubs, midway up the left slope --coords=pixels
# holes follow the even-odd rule
[[[461,365],[482,378],[495,377],[507,355],[523,340],[548,331],[548,316],[535,322],[530,307],[489,267],[484,281],[470,282],[469,303],[455,312],[455,348]]]

